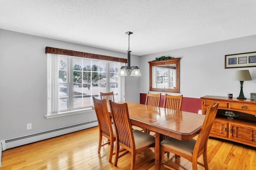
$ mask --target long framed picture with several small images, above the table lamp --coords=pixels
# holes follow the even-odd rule
[[[256,67],[256,52],[225,55],[225,68]]]

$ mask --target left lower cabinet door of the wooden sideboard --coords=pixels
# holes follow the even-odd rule
[[[210,131],[212,137],[228,137],[228,122],[215,119]]]

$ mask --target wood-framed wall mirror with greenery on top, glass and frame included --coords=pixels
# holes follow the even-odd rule
[[[150,91],[180,92],[180,58],[148,63]]]

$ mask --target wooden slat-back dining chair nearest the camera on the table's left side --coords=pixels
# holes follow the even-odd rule
[[[155,147],[155,137],[132,129],[127,103],[118,104],[110,101],[112,119],[116,128],[116,156],[114,166],[117,166],[120,146],[131,152],[131,170],[135,169],[136,154],[151,147]]]

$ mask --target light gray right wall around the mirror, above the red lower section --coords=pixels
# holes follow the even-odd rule
[[[239,96],[240,82],[233,81],[235,70],[249,70],[252,81],[245,81],[244,96],[256,93],[256,67],[224,68],[225,55],[256,51],[256,35],[208,43],[140,57],[140,92],[149,90],[149,64],[156,57],[172,56],[180,59],[180,93],[185,97],[200,98],[205,95]],[[173,93],[175,95],[175,93]]]

